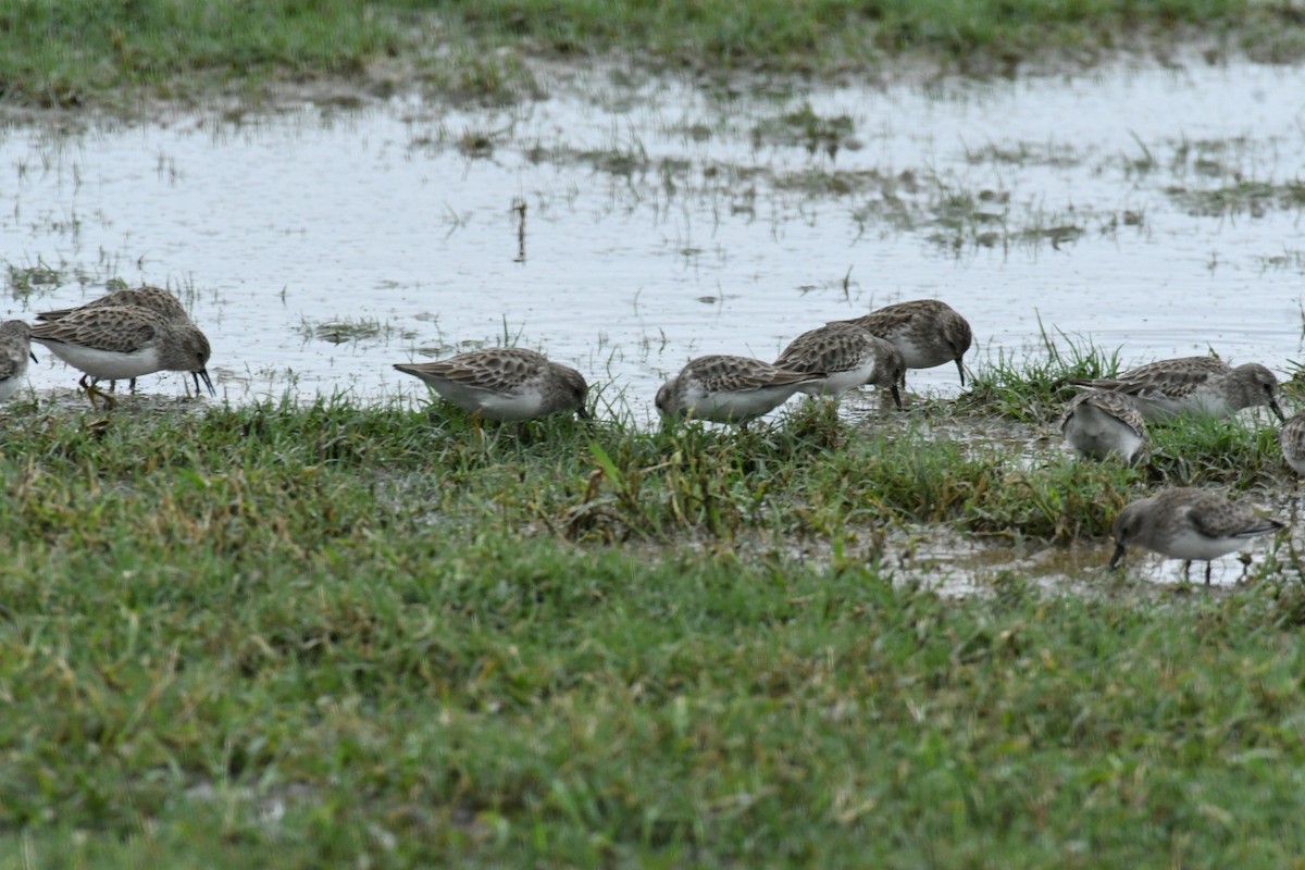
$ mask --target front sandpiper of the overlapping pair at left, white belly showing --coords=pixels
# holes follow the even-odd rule
[[[214,395],[209,363],[209,339],[193,323],[177,323],[146,308],[95,305],[56,321],[38,323],[31,340],[40,342],[73,368],[84,372],[78,382],[91,404],[95,395],[107,395],[87,383],[119,381],[141,374],[172,370],[189,372],[194,391],[200,380]],[[111,399],[108,399],[112,403]]]

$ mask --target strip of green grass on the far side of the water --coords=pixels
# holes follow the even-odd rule
[[[63,107],[333,77],[514,99],[535,91],[523,59],[608,52],[703,70],[829,73],[902,53],[989,70],[1060,51],[1082,63],[1121,43],[1197,33],[1267,60],[1305,50],[1298,10],[1248,0],[18,0],[0,10],[0,95]]]

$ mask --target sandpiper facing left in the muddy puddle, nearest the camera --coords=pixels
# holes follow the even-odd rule
[[[1114,518],[1114,554],[1109,567],[1114,570],[1124,558],[1124,548],[1135,544],[1167,558],[1184,560],[1184,577],[1193,560],[1205,561],[1208,584],[1212,560],[1232,553],[1251,537],[1280,528],[1284,526],[1276,519],[1261,517],[1210,490],[1164,489],[1139,498]]]

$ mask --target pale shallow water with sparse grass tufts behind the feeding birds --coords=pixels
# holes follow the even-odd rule
[[[813,134],[783,120],[804,106]],[[232,400],[425,395],[390,364],[506,337],[636,420],[692,356],[773,357],[914,297],[970,318],[971,364],[1036,352],[1040,321],[1128,361],[1212,347],[1282,370],[1301,350],[1301,166],[1305,68],[1242,63],[778,95],[595,74],[512,110],[10,125],[3,256],[59,278],[10,280],[4,309],[111,277],[180,288]],[[46,355],[30,380],[74,376]],[[947,367],[911,382],[958,387]]]

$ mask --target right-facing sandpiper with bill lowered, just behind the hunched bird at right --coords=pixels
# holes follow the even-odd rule
[[[1214,356],[1184,356],[1139,365],[1113,378],[1070,383],[1130,395],[1147,420],[1182,413],[1221,417],[1261,404],[1284,419],[1278,407],[1278,378],[1259,363],[1233,368]]]

